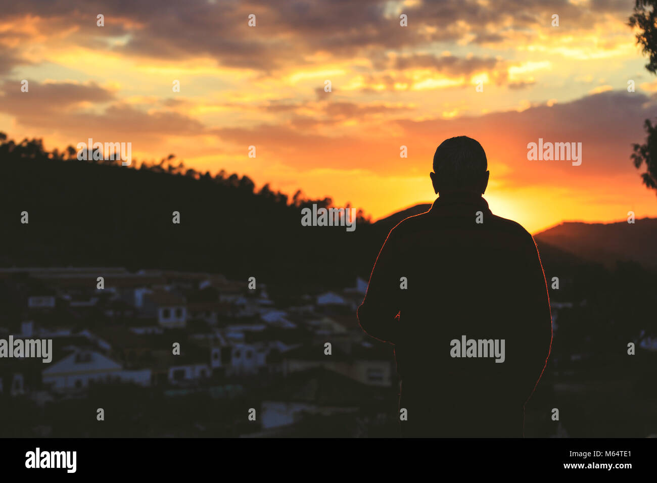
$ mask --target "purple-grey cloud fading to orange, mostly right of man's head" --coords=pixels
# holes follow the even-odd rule
[[[468,135],[480,143],[489,158],[512,168],[509,180],[518,185],[543,182],[572,182],[579,177],[628,173],[633,143],[645,139],[643,121],[654,118],[654,101],[639,93],[608,91],[576,101],[548,106],[542,104],[522,112],[495,112],[477,118],[401,120],[406,136],[437,141]],[[582,143],[583,162],[533,162],[526,158],[527,144],[545,142]],[[490,149],[490,152],[489,152]],[[539,179],[539,177],[543,179]],[[492,177],[492,175],[491,175]]]

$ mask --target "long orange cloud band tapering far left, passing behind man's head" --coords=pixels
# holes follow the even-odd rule
[[[430,169],[436,147],[449,137],[468,135],[482,143],[489,158],[491,179],[508,187],[568,186],[592,179],[633,173],[629,159],[632,143],[645,139],[643,121],[654,117],[657,104],[639,93],[610,91],[564,104],[537,105],[522,112],[493,112],[478,117],[434,120],[384,120],[376,129],[340,127],[334,120],[298,117],[288,125],[261,124],[250,128],[212,129],[222,141],[237,146],[254,144],[295,170],[312,169],[308,153],[321,153],[325,168],[357,167],[381,175],[407,175],[409,167]],[[350,112],[353,106],[335,104]],[[358,112],[358,108],[355,108]],[[381,136],[380,132],[394,133]],[[530,161],[528,143],[582,143],[581,166],[562,161]],[[400,162],[399,146],[406,145],[409,159]],[[504,166],[501,166],[504,165]],[[605,181],[607,182],[607,181]],[[613,189],[613,187],[610,187]]]

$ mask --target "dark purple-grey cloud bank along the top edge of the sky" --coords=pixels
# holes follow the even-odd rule
[[[368,55],[376,66],[381,51],[531,37],[536,28],[550,26],[553,13],[560,15],[555,34],[593,29],[601,12],[620,16],[625,5],[629,14],[629,3],[599,0],[589,9],[567,0],[424,1],[403,6],[407,27],[399,26],[399,15],[386,0],[87,0],[84,9],[78,0],[24,0],[3,6],[3,14],[16,21],[28,14],[45,18],[43,28],[53,33],[75,24],[79,29],[72,40],[86,47],[166,59],[209,56],[223,66],[271,73],[303,66],[318,52],[336,58]],[[96,26],[96,12],[105,16],[102,28]],[[256,14],[254,28],[247,24],[249,14]],[[112,47],[110,40],[122,36],[127,42]]]

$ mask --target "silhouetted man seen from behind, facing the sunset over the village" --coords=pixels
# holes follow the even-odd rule
[[[430,173],[438,198],[390,231],[358,309],[363,331],[395,346],[402,436],[521,437],[547,364],[536,244],[488,209],[488,176],[477,141],[443,141]]]

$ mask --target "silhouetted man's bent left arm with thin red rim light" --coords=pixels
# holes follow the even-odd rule
[[[376,258],[365,299],[357,310],[361,329],[370,336],[395,344],[398,340],[399,321],[399,266],[395,247],[394,229],[390,231]]]

